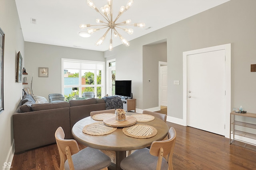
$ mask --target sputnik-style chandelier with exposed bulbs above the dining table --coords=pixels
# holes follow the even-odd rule
[[[88,28],[87,32],[89,34],[97,32],[100,29],[108,28],[106,33],[104,33],[104,35],[96,42],[96,45],[101,45],[103,43],[104,39],[106,38],[106,35],[108,34],[108,32],[111,31],[110,44],[109,44],[109,48],[108,48],[109,51],[112,51],[112,49],[113,49],[113,46],[112,46],[112,35],[113,34],[114,34],[114,37],[119,37],[120,40],[122,41],[122,44],[124,44],[124,45],[126,45],[126,47],[128,47],[130,45],[130,43],[126,39],[124,39],[124,37],[122,37],[122,35],[120,35],[120,33],[117,31],[117,29],[121,29],[121,30],[127,32],[128,34],[132,35],[132,33],[134,32],[133,29],[125,28],[125,27],[121,27],[121,26],[133,25],[135,27],[143,28],[145,26],[145,23],[133,23],[132,24],[130,19],[126,20],[126,21],[122,21],[120,23],[116,23],[118,18],[124,12],[126,12],[126,10],[128,10],[130,8],[130,6],[132,6],[133,0],[129,0],[128,3],[126,4],[126,6],[121,6],[121,8],[118,12],[118,15],[116,16],[116,19],[114,19],[114,20],[113,20],[112,0],[107,0],[107,1],[108,1],[108,4],[106,4],[104,7],[100,8],[100,10],[99,10],[94,5],[92,0],[87,0],[88,6],[90,6],[94,10],[96,10],[96,12],[100,13],[106,21],[96,19],[96,23],[101,23],[101,25],[80,24],[79,27],[81,29],[84,29],[87,27],[100,26],[100,28]]]

